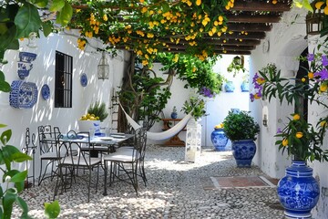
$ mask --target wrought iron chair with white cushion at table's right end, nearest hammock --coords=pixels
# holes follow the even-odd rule
[[[105,166],[105,191],[107,195],[107,178],[109,162],[109,186],[115,179],[132,184],[138,195],[138,167],[146,150],[147,131],[138,129],[135,131],[134,147],[121,149],[103,157]]]

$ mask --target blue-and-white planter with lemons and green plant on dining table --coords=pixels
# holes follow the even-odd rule
[[[108,111],[104,102],[96,101],[87,108],[87,113],[78,120],[80,131],[95,129],[95,134],[100,133],[100,122],[108,117]]]

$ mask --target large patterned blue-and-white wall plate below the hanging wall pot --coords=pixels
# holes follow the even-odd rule
[[[37,101],[36,84],[22,80],[14,80],[9,94],[10,106],[18,109],[32,108]]]

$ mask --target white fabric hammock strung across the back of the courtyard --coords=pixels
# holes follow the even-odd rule
[[[126,115],[128,123],[132,126],[132,128],[134,130],[137,130],[137,129],[141,128],[141,126],[137,123],[137,121],[133,120],[128,115],[128,113],[123,109],[123,107],[121,106],[120,103],[119,103],[119,106],[121,107],[124,114]],[[190,118],[191,118],[191,114],[188,114],[187,116],[185,116],[182,120],[180,120],[175,126],[170,128],[169,130],[165,130],[165,131],[162,131],[162,132],[147,131],[147,138],[150,139],[150,140],[156,140],[156,141],[167,140],[167,139],[175,136],[176,134],[178,134],[180,130],[183,130],[183,128],[187,125]]]

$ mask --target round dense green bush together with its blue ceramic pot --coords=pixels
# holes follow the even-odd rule
[[[260,132],[260,126],[250,112],[230,110],[223,120],[223,130],[231,140],[231,150],[237,166],[251,167],[251,160],[256,152],[254,141]]]

